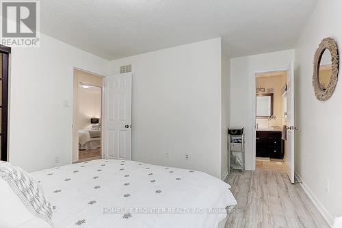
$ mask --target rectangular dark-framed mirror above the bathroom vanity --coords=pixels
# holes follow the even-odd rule
[[[257,94],[257,118],[268,118],[273,116],[273,94]]]

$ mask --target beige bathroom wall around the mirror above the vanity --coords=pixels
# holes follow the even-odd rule
[[[257,77],[256,79],[256,88],[265,88],[265,92],[267,92],[268,88],[273,88],[274,93],[274,116],[276,116],[276,120],[269,121],[269,126],[278,126],[282,127],[285,122],[284,118],[284,98],[281,97],[282,87],[285,86],[287,81],[286,74],[278,75],[278,76],[268,76],[268,77]],[[257,123],[260,127],[268,127],[268,119],[267,118],[257,118]]]

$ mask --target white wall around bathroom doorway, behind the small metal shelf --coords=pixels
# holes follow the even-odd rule
[[[255,153],[255,72],[285,68],[295,51],[277,51],[231,59],[231,125],[245,127],[246,169],[253,170]],[[252,140],[254,138],[254,140]],[[254,154],[255,155],[255,154]]]

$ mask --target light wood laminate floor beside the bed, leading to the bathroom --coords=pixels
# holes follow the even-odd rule
[[[299,183],[287,174],[262,170],[233,170],[225,180],[238,204],[228,227],[329,227]]]

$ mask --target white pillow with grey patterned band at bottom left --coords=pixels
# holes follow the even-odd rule
[[[0,162],[0,227],[53,227],[51,203],[38,182],[8,162]]]

